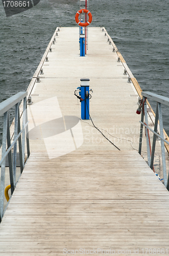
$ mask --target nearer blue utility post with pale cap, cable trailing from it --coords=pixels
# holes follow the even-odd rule
[[[81,119],[90,119],[89,118],[89,81],[90,79],[80,79],[81,81]]]

